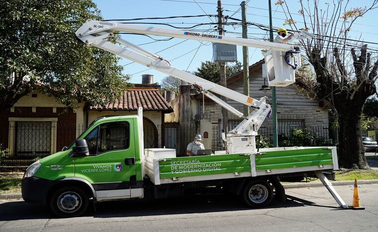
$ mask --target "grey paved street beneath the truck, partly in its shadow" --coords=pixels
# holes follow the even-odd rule
[[[352,186],[335,186],[347,204]],[[366,210],[339,210],[324,187],[289,189],[287,203],[249,209],[232,195],[104,202],[58,219],[22,201],[0,204],[0,231],[378,231],[378,185],[359,188]]]

